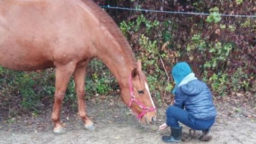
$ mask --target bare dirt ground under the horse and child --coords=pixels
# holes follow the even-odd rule
[[[83,129],[83,123],[73,111],[63,106],[61,120],[66,134],[54,135],[51,109],[41,115],[28,115],[3,119],[0,115],[0,143],[164,143],[161,137],[170,134],[166,129],[158,131],[164,123],[164,108],[158,108],[154,125],[141,125],[132,112],[117,97],[113,100],[87,101],[87,111],[93,119],[95,130]],[[231,106],[230,103],[217,104],[217,121],[212,127],[210,142],[198,140],[202,134],[196,131],[189,142],[181,143],[256,143],[256,107]],[[183,126],[183,135],[189,132]]]

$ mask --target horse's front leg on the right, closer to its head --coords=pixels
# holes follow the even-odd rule
[[[86,63],[87,64],[87,63]],[[76,85],[76,95],[77,95],[77,101],[78,101],[78,113],[81,119],[84,121],[85,129],[86,130],[94,130],[94,126],[92,121],[87,117],[86,109],[85,109],[85,90],[84,90],[84,79],[85,79],[85,71],[86,66],[84,65],[82,67],[78,67],[75,69],[74,72],[74,81]]]

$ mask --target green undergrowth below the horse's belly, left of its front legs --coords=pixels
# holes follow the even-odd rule
[[[3,106],[11,101],[13,112],[18,109],[38,111],[43,107],[42,101],[54,93],[54,73],[50,70],[28,73],[0,67],[0,71],[0,101]],[[51,100],[45,102],[47,105]]]

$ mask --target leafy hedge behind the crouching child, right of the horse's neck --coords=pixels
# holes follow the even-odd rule
[[[166,100],[166,96],[171,95],[173,81],[170,70],[178,61],[190,63],[196,75],[211,87],[216,96],[256,91],[253,85],[256,75],[256,21],[221,17],[221,13],[253,15],[255,2],[105,1],[104,4],[210,13],[202,16],[107,10],[110,14],[118,11],[119,14],[112,17],[120,22],[137,58],[142,59],[143,70],[157,101]]]

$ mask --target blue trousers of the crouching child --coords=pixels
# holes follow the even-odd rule
[[[180,127],[178,122],[190,127],[194,130],[207,130],[212,127],[215,122],[215,118],[200,120],[191,116],[188,111],[170,106],[166,110],[166,124],[171,127]]]

